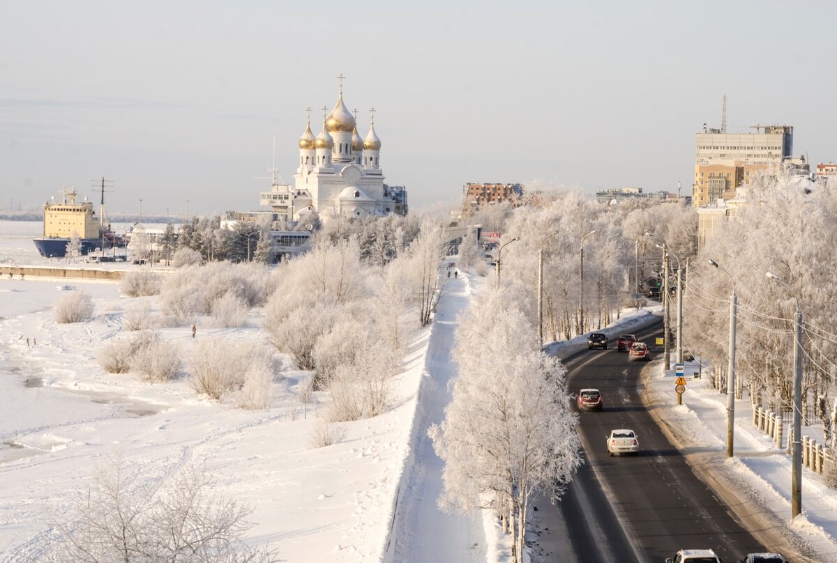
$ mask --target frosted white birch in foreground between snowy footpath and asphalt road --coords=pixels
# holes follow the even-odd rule
[[[457,331],[459,373],[444,422],[430,429],[444,459],[439,504],[493,509],[522,561],[534,494],[560,497],[581,463],[566,371],[537,350],[526,315],[499,288],[476,299]]]

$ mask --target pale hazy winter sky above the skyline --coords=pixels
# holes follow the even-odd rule
[[[116,181],[114,212],[256,209],[336,102],[420,208],[465,182],[691,192],[694,133],[794,126],[837,160],[833,3],[13,2],[0,207]],[[90,192],[91,197],[95,194]]]

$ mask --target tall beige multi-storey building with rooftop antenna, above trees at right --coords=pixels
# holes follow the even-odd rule
[[[793,155],[793,126],[752,125],[755,133],[709,129],[695,137],[695,181],[692,202],[703,207],[735,197],[737,187],[768,166]]]

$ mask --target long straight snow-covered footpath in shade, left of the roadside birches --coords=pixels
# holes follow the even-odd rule
[[[386,561],[485,561],[482,519],[439,509],[444,462],[427,435],[432,424],[442,422],[444,407],[450,402],[448,383],[456,375],[451,351],[457,317],[468,306],[471,291],[469,276],[450,279],[436,310],[411,433],[413,450],[398,490]]]

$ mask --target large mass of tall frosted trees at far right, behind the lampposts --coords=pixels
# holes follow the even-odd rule
[[[768,170],[739,189],[747,204],[718,225],[703,258],[735,279],[738,297],[737,374],[756,402],[788,409],[793,397],[793,315],[805,320],[803,402],[829,427],[834,401],[831,366],[837,335],[837,196],[805,177]],[[813,241],[816,241],[815,243]],[[773,272],[791,289],[767,279]],[[701,259],[690,266],[686,289],[686,344],[716,371],[727,363],[729,279]],[[725,374],[717,378],[720,385]]]

